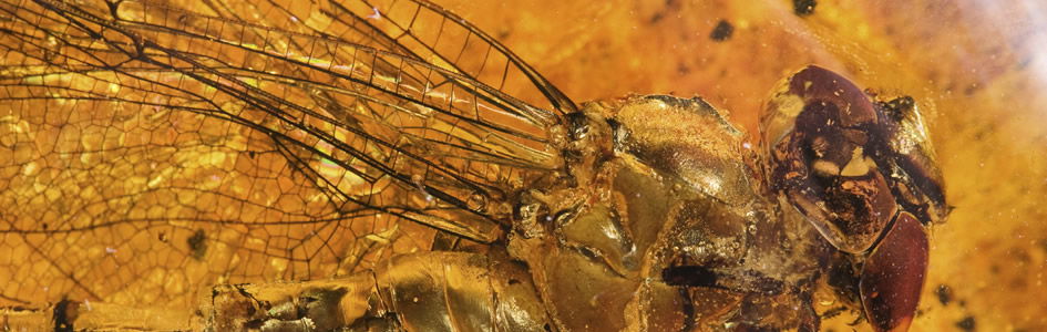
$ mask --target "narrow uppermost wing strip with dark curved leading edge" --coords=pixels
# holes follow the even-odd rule
[[[548,110],[577,106],[505,45],[424,0],[207,2],[217,15],[367,45],[440,65]],[[480,56],[478,56],[480,55]]]

